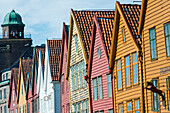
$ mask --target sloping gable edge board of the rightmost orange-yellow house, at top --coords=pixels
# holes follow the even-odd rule
[[[138,34],[142,33],[142,29],[143,29],[144,21],[145,21],[146,7],[147,7],[147,0],[142,0]]]

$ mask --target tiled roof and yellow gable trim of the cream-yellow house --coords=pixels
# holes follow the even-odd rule
[[[93,15],[96,13],[97,16],[107,17],[107,15],[113,13],[113,11],[90,11],[90,10],[80,10],[73,11],[71,9],[70,14],[70,29],[69,29],[69,43],[68,43],[68,54],[67,54],[67,69],[66,69],[66,79],[69,75],[70,67],[70,55],[71,55],[71,40],[73,32],[73,23],[75,23],[76,29],[78,31],[78,37],[80,37],[81,48],[83,51],[85,64],[88,64],[88,57],[90,52],[91,43],[91,30],[93,24]]]

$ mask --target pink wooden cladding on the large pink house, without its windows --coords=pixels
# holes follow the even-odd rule
[[[96,28],[94,37],[94,49],[92,54],[92,67],[91,67],[91,99],[92,99],[92,111],[101,111],[104,110],[104,112],[108,112],[109,109],[113,109],[112,104],[112,98],[108,98],[108,91],[107,91],[107,74],[108,72],[108,57],[106,56],[106,50],[103,48],[103,43],[101,40],[100,31]],[[97,49],[100,48],[101,50],[101,57],[98,57]],[[89,64],[90,65],[90,64]],[[88,70],[89,71],[89,70]],[[93,78],[96,78],[98,76],[102,76],[102,94],[103,99],[99,99],[99,90],[97,90],[97,100],[94,101],[93,99]],[[98,81],[98,80],[97,80]],[[98,89],[98,85],[97,85]],[[105,106],[105,107],[104,107]]]

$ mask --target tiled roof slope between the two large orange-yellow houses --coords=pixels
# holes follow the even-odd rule
[[[138,35],[141,5],[120,4],[137,44],[142,48],[142,38]]]

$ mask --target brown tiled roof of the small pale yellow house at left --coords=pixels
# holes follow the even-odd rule
[[[27,76],[30,75],[30,80],[32,80],[32,59],[21,59],[21,66],[23,72],[24,86],[26,87]]]

